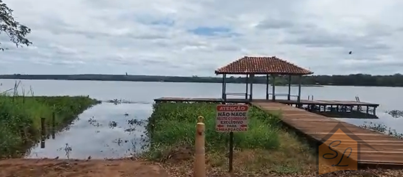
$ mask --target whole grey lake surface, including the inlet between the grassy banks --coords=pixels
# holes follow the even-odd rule
[[[0,79],[0,90],[14,87],[15,80]],[[221,97],[220,83],[166,83],[127,81],[61,81],[61,80],[21,80],[21,89],[32,87],[35,96],[77,96],[89,95],[98,100],[122,99],[133,104],[102,103],[96,105],[74,121],[69,130],[60,132],[56,138],[46,140],[45,148],[35,146],[28,158],[119,158],[141,151],[145,128],[131,125],[132,119],[147,120],[152,113],[152,103],[159,97]],[[269,88],[271,89],[271,88]],[[227,92],[245,92],[244,84],[227,84]],[[378,103],[379,119],[339,120],[363,125],[365,122],[383,123],[397,132],[403,133],[403,118],[393,118],[385,111],[403,110],[401,87],[352,87],[324,86],[302,87],[301,98],[313,95],[315,100],[355,100]],[[276,93],[287,93],[288,87],[276,86]],[[253,98],[266,98],[266,85],[253,85]],[[297,95],[298,87],[292,87],[291,94]],[[21,94],[21,91],[20,91]],[[399,96],[400,95],[400,96]],[[230,97],[229,97],[230,98]],[[234,97],[236,98],[236,97]],[[280,99],[280,98],[279,98]],[[127,115],[125,115],[127,114]],[[96,120],[96,121],[92,121]],[[114,121],[116,126],[110,126]],[[130,130],[130,131],[128,131]],[[71,151],[66,154],[66,147]]]

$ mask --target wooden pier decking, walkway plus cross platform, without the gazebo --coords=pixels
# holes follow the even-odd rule
[[[256,106],[264,111],[280,111],[281,121],[295,129],[300,134],[314,140],[318,143],[324,143],[326,135],[330,134],[332,129],[338,124],[347,128],[354,136],[357,136],[359,140],[355,140],[358,143],[365,143],[369,146],[361,145],[359,152],[353,152],[359,154],[359,159],[354,159],[358,162],[359,166],[369,168],[391,168],[401,169],[403,168],[403,140],[377,133],[355,125],[332,119],[322,115],[318,115],[314,112],[309,112],[306,109],[290,106],[291,104],[306,104],[306,105],[338,105],[338,106],[378,106],[378,104],[367,102],[354,102],[354,101],[338,101],[338,100],[301,100],[301,103],[290,102],[290,100],[272,100],[265,99],[226,99],[221,98],[157,98],[156,102],[212,102],[212,103],[247,103],[252,106]],[[340,136],[337,136],[340,139]],[[343,140],[341,140],[343,141]],[[351,140],[344,140],[350,141]],[[328,144],[326,144],[329,146]],[[344,147],[344,146],[343,146]],[[339,153],[343,153],[343,150],[333,148]]]

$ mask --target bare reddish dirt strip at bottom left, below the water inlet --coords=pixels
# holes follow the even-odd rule
[[[0,177],[169,177],[160,165],[120,160],[0,160]]]

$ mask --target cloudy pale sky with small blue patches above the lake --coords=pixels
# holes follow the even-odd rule
[[[3,1],[34,45],[0,34],[0,74],[214,76],[242,56],[315,74],[403,73],[402,0]]]

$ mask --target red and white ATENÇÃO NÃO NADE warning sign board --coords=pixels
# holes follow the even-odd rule
[[[247,104],[217,105],[216,131],[248,131],[248,110]]]

